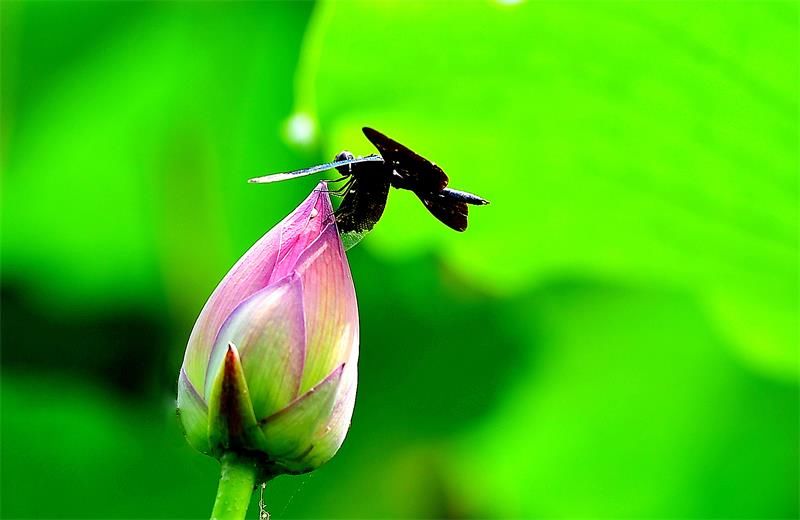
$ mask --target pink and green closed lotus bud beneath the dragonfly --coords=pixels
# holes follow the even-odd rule
[[[264,473],[305,473],[353,413],[358,309],[325,184],[233,266],[194,325],[178,380],[189,443]]]

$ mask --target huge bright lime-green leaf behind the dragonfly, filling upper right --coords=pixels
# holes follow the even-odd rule
[[[325,2],[297,112],[330,153],[371,151],[374,126],[492,201],[461,236],[393,193],[375,252],[435,250],[501,294],[578,273],[688,289],[754,366],[796,377],[797,20],[794,2]]]

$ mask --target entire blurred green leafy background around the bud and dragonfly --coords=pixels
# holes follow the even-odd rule
[[[797,518],[796,2],[2,9],[4,518],[200,518],[191,326],[374,126],[408,193],[349,253],[359,394],[274,518]],[[251,509],[251,514],[255,514]]]

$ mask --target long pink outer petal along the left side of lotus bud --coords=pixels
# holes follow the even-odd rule
[[[206,367],[222,323],[245,299],[291,272],[288,266],[332,220],[330,198],[320,183],[291,214],[253,245],[233,266],[206,302],[195,322],[183,368],[203,394]]]

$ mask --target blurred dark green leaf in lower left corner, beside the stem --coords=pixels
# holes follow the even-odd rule
[[[201,518],[217,462],[174,403],[137,406],[69,379],[3,374],[3,518]]]

